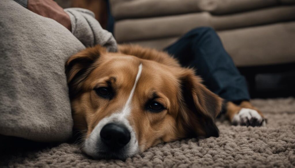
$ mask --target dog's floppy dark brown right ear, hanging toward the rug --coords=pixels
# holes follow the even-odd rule
[[[185,69],[180,75],[181,123],[189,137],[219,137],[215,118],[222,108],[222,99],[207,89],[193,69]],[[188,131],[189,130],[189,131]]]

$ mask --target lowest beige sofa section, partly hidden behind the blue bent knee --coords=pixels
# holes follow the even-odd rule
[[[220,31],[218,34],[236,66],[295,62],[295,22]],[[162,50],[179,37],[133,41],[132,44]]]

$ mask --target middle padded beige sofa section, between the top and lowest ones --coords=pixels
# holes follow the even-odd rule
[[[181,36],[200,26],[215,30],[295,20],[295,5],[267,8],[232,15],[214,16],[208,12],[116,21],[114,36],[118,42]]]

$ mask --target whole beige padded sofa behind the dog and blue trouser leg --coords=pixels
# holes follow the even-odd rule
[[[295,0],[110,0],[119,43],[164,49],[211,26],[238,67],[295,62]]]

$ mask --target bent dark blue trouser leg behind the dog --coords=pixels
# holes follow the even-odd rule
[[[196,68],[204,84],[225,100],[249,100],[245,78],[237,70],[214,29],[196,28],[165,49],[185,67]]]

